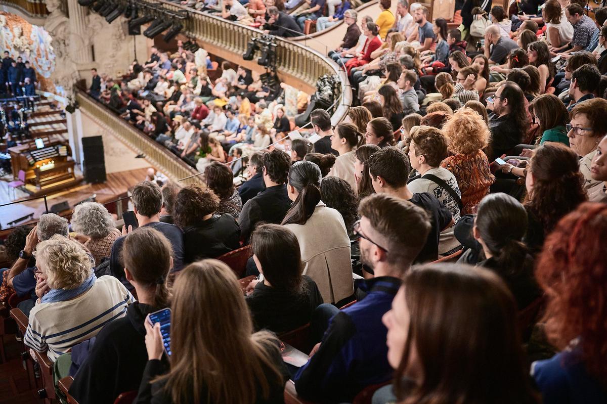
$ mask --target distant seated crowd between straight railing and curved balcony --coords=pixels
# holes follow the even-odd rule
[[[97,75],[89,94],[171,152],[205,172],[212,163],[226,163],[265,149],[291,130],[294,115],[305,110],[308,96],[292,88],[285,99],[282,87],[268,87],[259,73],[222,63],[212,82],[211,60],[203,49],[178,50],[169,55],[151,49],[149,61],[137,61],[120,80]],[[291,115],[287,115],[286,103]],[[274,147],[285,149],[283,144]],[[242,172],[242,163],[235,170]]]

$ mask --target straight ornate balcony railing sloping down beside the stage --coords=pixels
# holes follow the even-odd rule
[[[86,110],[93,120],[104,129],[109,130],[121,141],[126,143],[137,152],[143,153],[146,160],[156,169],[163,172],[171,180],[177,181],[197,173],[195,169],[188,166],[184,161],[171,153],[166,147],[161,146],[154,140],[148,138],[140,130],[131,126],[117,116],[107,107],[101,105],[98,101],[91,98],[86,92],[77,90],[76,101],[80,107]],[[183,185],[202,184],[202,176],[188,178],[181,181]]]

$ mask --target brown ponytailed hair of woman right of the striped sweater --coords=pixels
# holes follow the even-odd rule
[[[154,288],[150,305],[165,308],[169,305],[166,277],[171,271],[173,249],[169,240],[152,227],[139,227],[124,238],[122,259],[124,268],[134,280],[147,288]]]

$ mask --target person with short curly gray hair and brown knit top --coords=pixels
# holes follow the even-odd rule
[[[97,202],[76,205],[72,214],[72,230],[77,233],[76,240],[89,249],[96,266],[110,256],[114,241],[121,235],[112,214]]]

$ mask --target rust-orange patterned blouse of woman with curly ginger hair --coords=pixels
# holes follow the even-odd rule
[[[489,187],[495,182],[495,176],[489,170],[487,155],[482,150],[469,155],[447,157],[441,167],[452,172],[457,180],[464,204],[462,215],[472,213],[473,207],[489,194]]]

